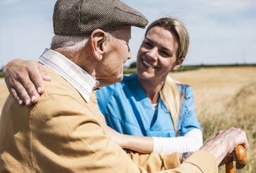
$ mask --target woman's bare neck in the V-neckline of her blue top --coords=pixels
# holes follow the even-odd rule
[[[163,87],[164,80],[162,81],[156,81],[156,80],[145,80],[137,76],[137,81],[142,86],[142,89],[147,95],[147,98],[149,98],[151,104],[155,104],[159,102],[159,96],[161,88]]]

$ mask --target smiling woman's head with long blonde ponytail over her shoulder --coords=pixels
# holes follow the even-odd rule
[[[149,86],[148,82],[156,88],[159,84],[163,86],[160,91],[161,98],[172,116],[176,135],[180,114],[180,91],[168,72],[180,67],[188,48],[187,29],[180,22],[163,18],[149,25],[137,54],[138,80],[144,88]],[[159,98],[152,98],[151,102],[156,103],[156,99]]]

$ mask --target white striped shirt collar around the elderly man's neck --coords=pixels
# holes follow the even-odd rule
[[[97,80],[59,52],[46,49],[39,57],[39,62],[56,70],[59,75],[79,91],[87,103],[90,100],[90,93],[98,88],[99,82]]]

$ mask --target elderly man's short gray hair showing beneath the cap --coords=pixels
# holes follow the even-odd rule
[[[107,33],[107,38],[114,38],[112,33]],[[64,48],[67,52],[79,52],[86,46],[89,36],[58,36],[55,35],[50,43],[50,49]]]

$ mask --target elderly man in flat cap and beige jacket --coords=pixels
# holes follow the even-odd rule
[[[57,1],[51,50],[39,58],[51,82],[32,107],[12,96],[6,100],[0,172],[217,172],[235,146],[248,148],[245,133],[230,128],[180,165],[178,153],[127,154],[110,140],[95,90],[122,80],[123,63],[131,56],[130,27],[146,24],[118,0]]]

